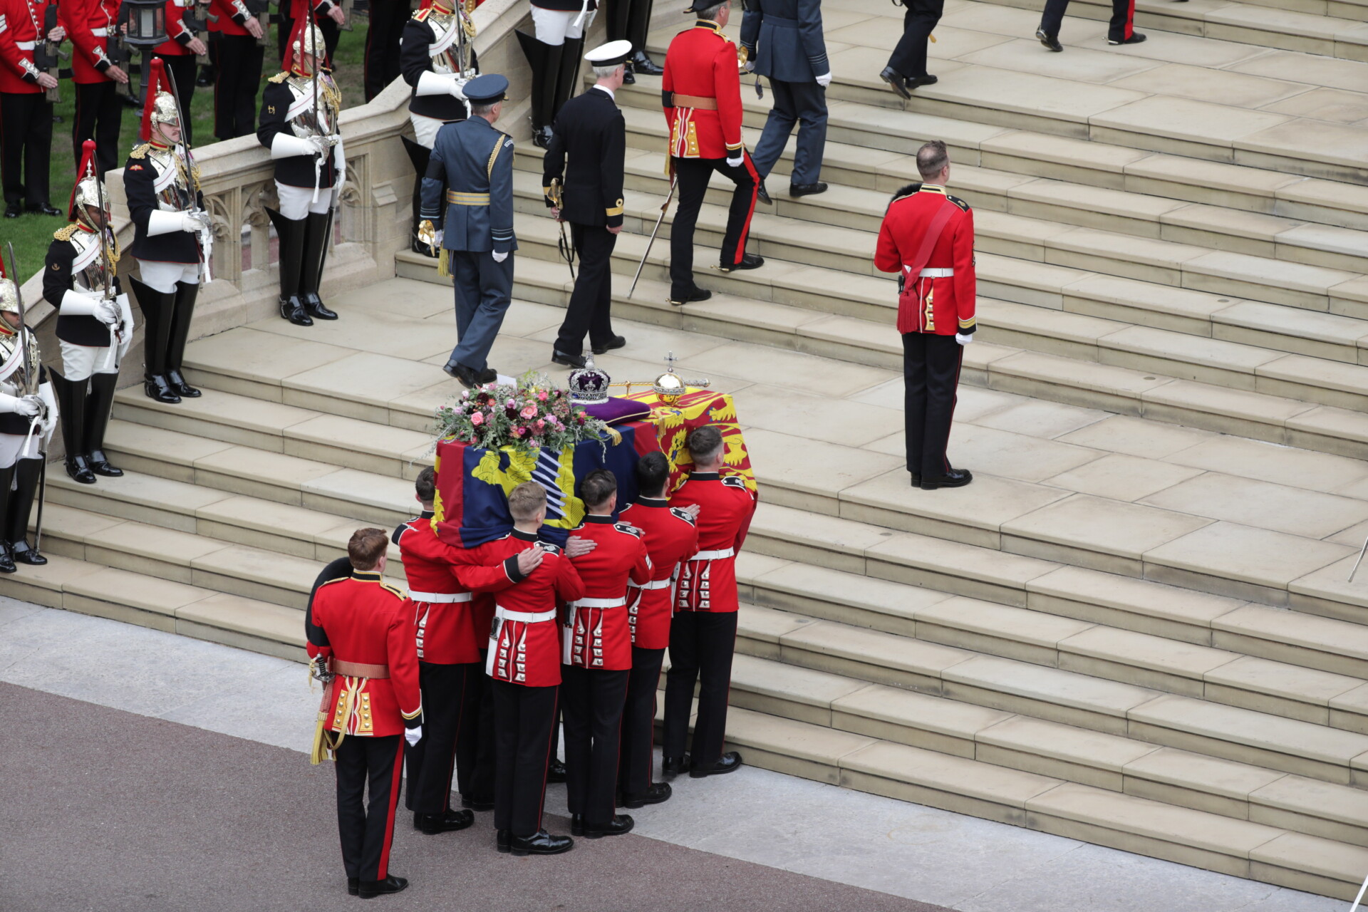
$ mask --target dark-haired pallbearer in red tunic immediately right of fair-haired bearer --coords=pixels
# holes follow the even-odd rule
[[[627,680],[632,667],[632,629],[627,614],[628,580],[651,580],[651,558],[640,529],[613,522],[617,479],[596,469],[580,483],[588,507],[572,533],[595,548],[575,558],[584,596],[565,613],[561,670],[565,693],[565,793],[570,833],[596,840],[632,829],[632,818],[614,812],[618,734]]]

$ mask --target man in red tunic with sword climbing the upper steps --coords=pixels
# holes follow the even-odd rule
[[[765,265],[762,257],[746,253],[761,180],[741,139],[736,45],[722,34],[732,0],[694,0],[685,12],[698,14],[698,22],[670,41],[661,81],[665,122],[670,129],[670,172],[679,182],[680,197],[670,226],[669,301],[676,306],[713,297],[694,284],[694,228],[714,171],[736,185],[717,268],[732,272]]]

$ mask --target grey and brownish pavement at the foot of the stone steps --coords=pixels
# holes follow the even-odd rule
[[[295,912],[341,900],[331,777],[300,756],[317,706],[305,678],[293,662],[0,599],[0,908]],[[677,779],[676,789],[668,804],[635,812],[633,834],[560,859],[497,855],[488,819],[436,838],[401,826],[394,870],[415,886],[386,902],[480,912],[1343,908],[766,770]],[[564,786],[547,809],[565,814]]]

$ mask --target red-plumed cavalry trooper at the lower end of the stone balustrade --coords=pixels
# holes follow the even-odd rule
[[[138,279],[129,279],[138,298],[144,327],[142,388],[157,402],[176,403],[200,391],[185,381],[181,365],[190,319],[200,294],[201,271],[208,275],[209,216],[200,193],[200,171],[181,144],[181,111],[164,90],[161,62],[152,60],[148,101],[142,111],[142,145],[123,167],[123,193],[133,220]]]

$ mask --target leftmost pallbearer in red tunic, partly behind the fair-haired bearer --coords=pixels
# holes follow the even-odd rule
[[[472,722],[480,715],[480,695],[484,692],[484,656],[482,651],[490,639],[492,613],[477,611],[471,592],[456,578],[456,548],[436,537],[432,529],[434,472],[428,466],[415,483],[423,513],[394,531],[391,540],[399,546],[404,573],[409,580],[409,610],[413,613],[417,636],[419,685],[423,690],[423,718],[425,737],[409,751],[409,788],[406,807],[413,811],[413,829],[436,835],[464,830],[475,823],[471,809],[451,809],[451,773],[457,762],[457,745],[462,736],[479,741],[475,725],[465,725],[465,714]],[[492,716],[490,718],[492,723]],[[473,763],[476,745],[469,744],[468,756]],[[492,745],[484,753],[492,777]],[[475,770],[462,770],[462,778],[475,779]],[[486,782],[482,808],[492,809],[494,786]],[[472,796],[473,797],[473,796]]]

